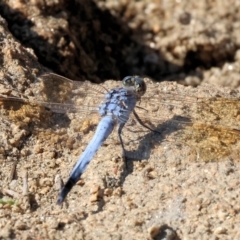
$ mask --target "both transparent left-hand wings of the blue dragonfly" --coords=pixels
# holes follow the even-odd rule
[[[56,120],[51,112],[77,112],[79,114],[75,117],[78,119],[84,120],[91,114],[93,121],[94,116],[94,125],[96,125],[95,123],[99,121],[98,107],[107,92],[100,85],[94,85],[88,81],[72,81],[53,73],[42,75],[32,84],[31,90],[34,96],[30,99],[0,96],[1,109],[8,110],[2,114],[8,115],[11,120],[18,122],[21,126],[33,121],[35,125],[41,127],[57,128],[63,127],[63,117],[61,117],[62,120],[59,117]],[[69,120],[65,122],[69,124]],[[83,124],[86,125],[85,122]]]

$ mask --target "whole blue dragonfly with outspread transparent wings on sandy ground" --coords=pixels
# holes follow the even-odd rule
[[[88,81],[77,82],[48,73],[31,87],[33,99],[0,95],[0,106],[10,111],[10,120],[24,122],[23,115],[28,115],[38,117],[39,122],[44,123],[49,113],[43,109],[77,113],[81,118],[97,116],[95,135],[61,189],[57,204],[63,203],[116,125],[123,157],[142,157],[141,154],[128,156],[121,136],[132,119],[154,134],[167,138],[174,133],[173,142],[189,145],[196,152],[196,158],[203,161],[230,156],[239,147],[240,101],[235,96],[225,97],[224,93],[222,96],[219,93],[210,97],[198,96],[196,89],[190,89],[191,94],[184,95],[180,85],[161,85],[139,76],[127,76],[122,80],[122,86],[108,90]],[[214,89],[207,87],[206,95],[209,91],[212,93]],[[38,115],[39,112],[44,114]]]

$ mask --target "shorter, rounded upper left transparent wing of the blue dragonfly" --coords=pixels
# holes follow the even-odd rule
[[[59,113],[97,111],[107,92],[100,85],[72,81],[53,73],[42,75],[33,91],[38,102]]]

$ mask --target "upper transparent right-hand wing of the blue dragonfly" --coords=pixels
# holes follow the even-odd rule
[[[182,116],[192,122],[240,128],[239,98],[225,97],[224,93],[219,96],[219,93],[209,86],[205,90],[202,88],[201,91],[190,88],[188,92],[191,95],[184,95],[185,90],[181,85],[165,83],[164,87],[161,87],[161,84],[149,83],[147,86],[148,92],[142,98],[140,106],[146,108],[148,105],[146,109],[151,109],[152,119]]]

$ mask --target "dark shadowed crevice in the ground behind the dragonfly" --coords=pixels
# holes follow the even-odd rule
[[[199,69],[233,61],[236,51],[236,47],[223,51],[219,60],[219,46],[216,50],[212,46],[210,50],[197,46],[196,51],[186,54],[183,66],[179,66],[144,44],[146,32],[133,31],[123,20],[100,10],[93,1],[39,4],[38,8],[25,4],[23,9],[12,9],[1,2],[0,14],[7,20],[11,33],[25,47],[34,49],[42,65],[76,80],[101,82],[133,74],[155,80],[171,80],[176,74],[201,77]]]

